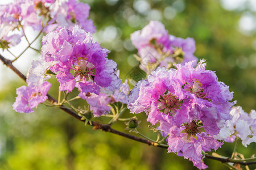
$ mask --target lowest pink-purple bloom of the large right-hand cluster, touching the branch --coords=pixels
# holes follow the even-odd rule
[[[168,152],[176,152],[178,156],[192,161],[195,167],[205,169],[207,165],[203,162],[202,151],[217,150],[223,143],[207,135],[199,124],[197,120],[193,120],[178,128],[173,122],[160,120],[159,129],[169,134]]]

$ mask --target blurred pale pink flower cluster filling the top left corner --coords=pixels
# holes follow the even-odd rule
[[[36,31],[50,32],[61,26],[78,24],[87,32],[95,32],[92,20],[88,20],[89,5],[76,0],[18,0],[0,5],[0,45],[6,49],[19,44],[24,32],[32,27]]]

